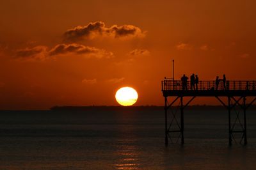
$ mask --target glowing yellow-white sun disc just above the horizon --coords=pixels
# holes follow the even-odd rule
[[[124,87],[116,91],[116,102],[120,105],[129,106],[133,105],[138,100],[138,93],[135,89]]]

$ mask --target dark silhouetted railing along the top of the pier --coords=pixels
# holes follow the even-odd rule
[[[193,89],[193,87],[192,87]],[[191,82],[182,84],[182,81],[164,79],[162,81],[162,91],[172,90],[192,90]],[[215,81],[199,81],[195,84],[195,90],[256,90],[256,81],[220,81],[218,86]]]

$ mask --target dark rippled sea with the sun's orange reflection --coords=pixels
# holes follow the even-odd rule
[[[1,111],[0,169],[256,168],[256,111],[246,146],[228,146],[224,109],[185,110],[184,123],[184,146],[165,147],[163,109]]]

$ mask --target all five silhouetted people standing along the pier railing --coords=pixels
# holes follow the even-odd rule
[[[215,89],[218,90],[220,81],[223,82],[223,89],[226,89],[226,75],[223,74],[223,79],[220,79],[219,76],[216,77],[215,80]],[[182,82],[182,89],[183,90],[188,90],[188,77],[184,74],[181,77],[181,82]],[[190,76],[190,89],[191,90],[198,90],[198,75],[195,75],[194,73]],[[214,89],[214,87],[213,87]]]

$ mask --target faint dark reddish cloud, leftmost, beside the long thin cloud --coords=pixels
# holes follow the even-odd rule
[[[45,60],[47,58],[47,47],[39,45],[33,48],[17,50],[16,58],[25,60]]]

